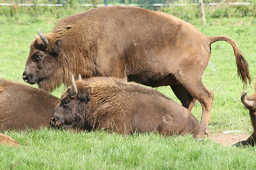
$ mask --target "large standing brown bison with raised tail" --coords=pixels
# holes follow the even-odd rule
[[[236,56],[238,75],[250,83],[246,59],[227,36],[208,37],[172,15],[139,7],[110,6],[67,16],[51,33],[39,29],[32,41],[23,79],[51,91],[82,78],[114,76],[146,86],[171,86],[185,108],[202,105],[199,136],[207,133],[213,92],[201,76],[210,44],[227,41]]]

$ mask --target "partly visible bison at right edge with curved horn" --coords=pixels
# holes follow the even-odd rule
[[[255,146],[256,141],[256,82],[254,83],[254,94],[252,94],[250,97],[247,96],[247,92],[243,92],[241,96],[241,101],[243,105],[250,111],[250,117],[251,117],[251,124],[253,124],[253,134],[246,140],[236,143],[236,146],[245,146],[245,145],[251,145]]]

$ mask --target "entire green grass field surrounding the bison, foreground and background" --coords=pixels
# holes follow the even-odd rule
[[[63,16],[64,17],[64,16]],[[22,73],[30,51],[30,43],[39,28],[50,32],[60,18],[42,16],[0,16],[0,78],[23,82]],[[189,20],[207,36],[232,37],[250,65],[256,78],[255,17]],[[240,97],[243,89],[237,76],[232,46],[214,42],[212,65],[203,74],[206,87],[214,92],[210,133],[253,130],[249,112]],[[34,86],[36,87],[36,86]],[[65,87],[52,94],[60,97]],[[179,103],[170,87],[157,88]],[[249,94],[253,92],[248,87]],[[199,118],[201,105],[192,113]],[[26,111],[24,111],[26,114]],[[208,139],[196,142],[191,136],[163,138],[148,133],[122,137],[104,131],[73,133],[72,131],[35,130],[6,131],[20,142],[19,148],[0,146],[0,169],[254,169],[255,148],[224,147]]]

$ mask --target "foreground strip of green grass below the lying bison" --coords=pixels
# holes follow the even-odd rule
[[[105,131],[37,130],[10,133],[19,148],[1,146],[8,169],[253,169],[255,148],[224,147],[191,136],[147,133],[122,137]],[[251,158],[251,159],[250,159]]]

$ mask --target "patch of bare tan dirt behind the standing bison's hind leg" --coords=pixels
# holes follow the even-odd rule
[[[249,134],[217,133],[217,134],[209,134],[207,139],[211,139],[214,142],[220,143],[223,146],[232,146],[237,142],[245,141],[249,137],[250,137]]]

